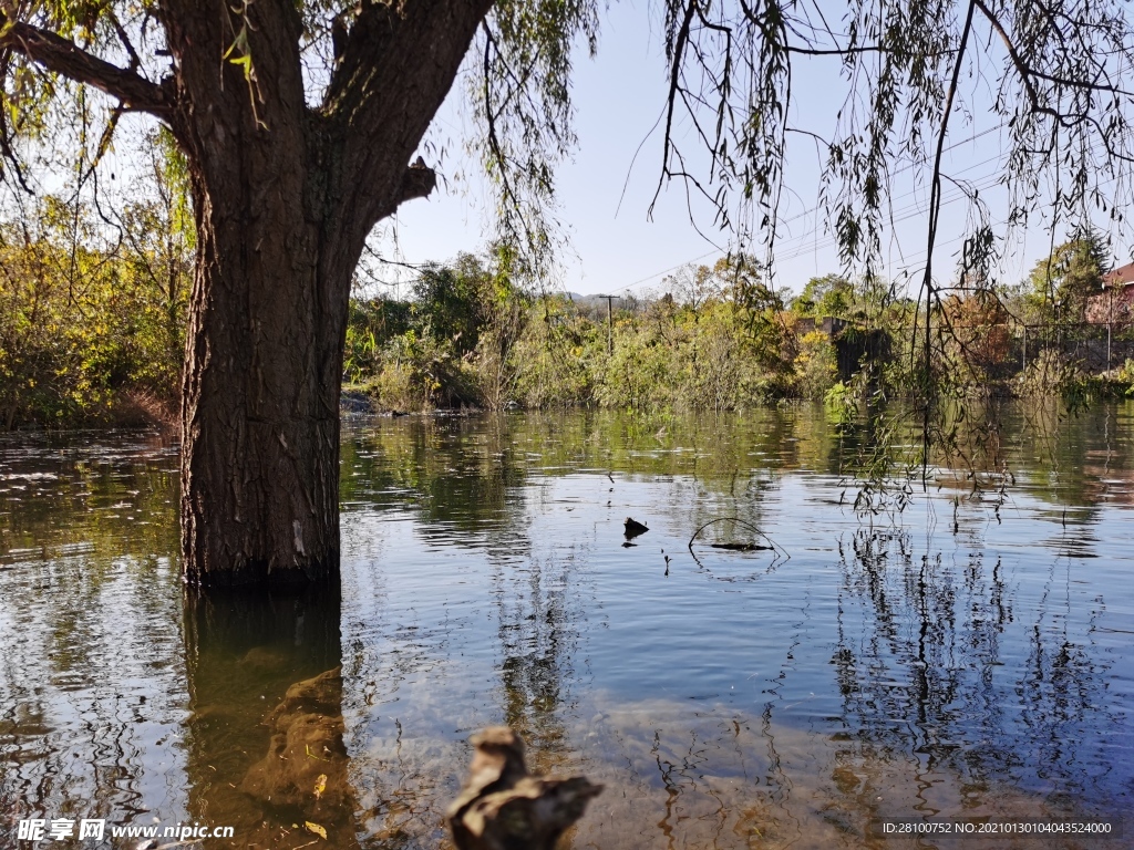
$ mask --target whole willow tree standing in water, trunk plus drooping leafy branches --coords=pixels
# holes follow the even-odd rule
[[[1118,221],[1132,188],[1134,39],[1124,7],[854,0],[832,26],[819,2],[662,6],[668,99],[658,192],[678,180],[703,194],[716,224],[743,245],[764,245],[763,267],[775,269],[789,138],[815,146],[827,227],[848,270],[858,266],[866,280],[891,212],[891,177],[913,169],[924,178],[919,391],[928,447],[934,382],[948,368],[933,321],[947,142],[966,114],[992,114],[1006,146],[1009,228],[1026,227],[1041,203],[1052,221],[1081,221],[1091,204]],[[474,145],[499,188],[501,236],[539,270],[553,248],[544,216],[552,167],[574,143],[572,45],[581,39],[594,49],[598,5],[19,0],[0,8],[7,175],[19,179],[16,136],[51,120],[45,104],[70,91],[61,80],[110,96],[102,139],[124,112],[146,112],[185,158],[197,233],[181,399],[186,578],[333,580],[338,391],[365,239],[434,187],[415,155],[429,153],[422,139],[467,57],[481,128]],[[812,113],[795,109],[801,63],[841,75],[847,100],[833,128],[796,124]],[[970,75],[988,84],[971,96]],[[985,91],[990,100],[981,100]],[[979,187],[953,185],[970,204],[960,283],[990,284],[1006,235],[993,229]]]

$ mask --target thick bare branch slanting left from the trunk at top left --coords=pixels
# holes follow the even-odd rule
[[[92,85],[129,109],[163,119],[174,111],[174,97],[166,86],[99,59],[52,32],[14,23],[3,14],[0,14],[0,51],[20,53],[49,71]]]

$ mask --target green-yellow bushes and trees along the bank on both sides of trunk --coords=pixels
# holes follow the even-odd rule
[[[117,238],[52,196],[0,227],[0,426],[176,419],[193,239],[177,197],[136,202]],[[396,411],[726,411],[811,399],[848,420],[928,377],[955,398],[1082,403],[1134,386],[1128,317],[1089,321],[1105,269],[1089,237],[1016,286],[958,286],[931,316],[938,363],[926,376],[924,311],[880,281],[827,274],[794,295],[728,257],[608,304],[518,286],[506,252],[463,254],[420,269],[406,298],[352,298],[344,377]]]

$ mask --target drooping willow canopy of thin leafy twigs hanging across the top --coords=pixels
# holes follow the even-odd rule
[[[17,138],[44,129],[49,101],[70,91],[66,79],[110,95],[108,129],[124,111],[146,111],[179,134],[189,57],[171,42],[191,33],[198,48],[210,45],[200,52],[218,53],[201,57],[208,66],[200,69],[202,83],[212,78],[202,93],[234,96],[218,69],[238,69],[248,120],[280,131],[294,119],[279,108],[306,105],[329,129],[357,139],[347,146],[353,172],[365,173],[362,148],[381,145],[389,134],[421,136],[423,128],[387,120],[395,93],[412,92],[415,76],[425,73],[391,48],[408,46],[413,40],[399,36],[426,26],[418,16],[445,18],[466,5],[304,0],[278,5],[278,14],[268,14],[268,6],[276,5],[7,5],[0,133],[9,175],[19,173]],[[573,46],[596,48],[600,8],[593,0],[485,0],[465,12],[479,29],[471,53],[460,51],[479,119],[469,142],[499,189],[501,230],[538,254],[548,249],[543,214],[555,192],[553,167],[575,141]],[[269,33],[269,22],[280,32]],[[1131,199],[1132,93],[1124,79],[1134,43],[1119,2],[667,0],[662,33],[669,97],[659,190],[676,179],[709,198],[717,223],[741,243],[771,248],[784,158],[796,139],[824,160],[827,226],[845,261],[868,271],[892,212],[889,187],[904,169],[922,170],[929,185],[930,245],[942,186],[953,180],[968,195],[963,261],[974,267],[995,258],[1006,228],[1026,226],[1039,206],[1050,224],[1073,228],[1097,211],[1117,221]],[[273,53],[276,36],[288,45],[284,54]],[[400,59],[407,61],[396,66]],[[844,78],[847,97],[837,116],[816,120],[798,108],[793,79],[804,62],[822,62]],[[942,160],[946,141],[972,131],[975,114],[985,110],[985,129],[996,129],[1005,145],[1009,202],[998,222],[979,190],[950,178]],[[693,131],[678,131],[683,126]],[[91,146],[108,139],[93,134]],[[409,178],[397,197],[433,185],[428,169]],[[362,227],[369,231],[387,206],[359,210]]]

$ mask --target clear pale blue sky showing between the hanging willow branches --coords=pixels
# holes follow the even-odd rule
[[[558,212],[570,252],[564,257],[557,288],[583,294],[657,288],[676,266],[693,261],[711,264],[729,246],[728,233],[713,230],[706,205],[694,206],[702,232],[691,224],[680,184],[663,192],[653,220],[648,220],[660,173],[661,130],[657,122],[666,101],[657,12],[644,0],[613,3],[602,17],[598,57],[592,60],[584,51],[577,53],[573,97],[579,144],[574,161],[558,172]],[[794,122],[829,137],[845,97],[838,62],[812,60],[796,68]],[[979,80],[972,82],[974,91],[979,85]],[[383,256],[407,263],[445,261],[460,250],[480,249],[491,236],[491,205],[484,201],[483,180],[476,164],[459,155],[460,139],[475,131],[463,105],[467,91],[458,80],[433,129],[448,142],[450,152],[458,151],[440,163],[440,172],[443,177],[463,175],[464,179],[450,180],[448,188],[440,187],[429,199],[404,205],[396,227],[375,241]],[[996,119],[957,114],[948,143],[947,167],[982,188],[982,196],[992,202],[996,221],[995,179],[1000,164]],[[793,145],[776,273],[779,286],[798,290],[809,278],[839,271],[840,265],[824,222],[807,213],[816,205],[821,170],[815,145],[803,136]],[[929,193],[914,179],[915,175],[906,171],[892,186],[895,227],[892,239],[883,247],[886,272],[891,278],[903,271],[920,275],[924,265],[923,211]],[[956,265],[966,212],[959,194],[956,189],[945,194],[940,247],[934,253],[939,278],[949,277]],[[948,203],[950,198],[957,201]],[[1006,280],[1018,280],[1048,253],[1049,235],[1035,229],[1025,236],[1001,269]]]

